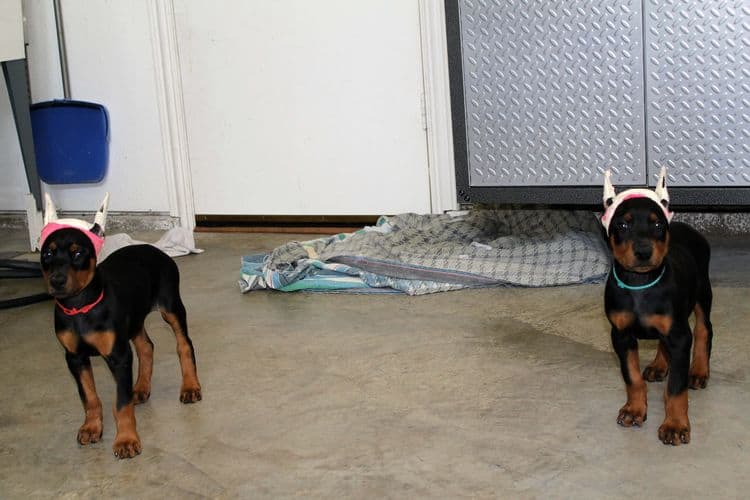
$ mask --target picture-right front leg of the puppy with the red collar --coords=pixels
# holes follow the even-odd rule
[[[133,351],[130,344],[127,341],[118,343],[105,360],[117,384],[117,399],[112,408],[117,434],[112,451],[117,458],[133,458],[141,452],[141,439],[135,428]]]

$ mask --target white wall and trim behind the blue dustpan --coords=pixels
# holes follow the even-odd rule
[[[71,97],[107,107],[109,169],[100,184],[49,186],[63,210],[169,212],[149,21],[150,0],[63,0]],[[25,0],[32,101],[62,97],[52,2]],[[0,210],[28,192],[4,82],[0,82]],[[7,111],[7,112],[6,112]]]

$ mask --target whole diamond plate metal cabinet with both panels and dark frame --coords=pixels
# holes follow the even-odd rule
[[[445,6],[459,202],[750,204],[750,1]]]

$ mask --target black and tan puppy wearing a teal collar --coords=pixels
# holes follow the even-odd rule
[[[665,417],[659,439],[664,444],[686,444],[690,442],[687,389],[705,388],[709,378],[711,250],[706,239],[687,224],[670,223],[664,171],[656,191],[630,189],[617,196],[608,174],[602,222],[614,259],[604,308],[627,390],[627,402],[617,423],[641,426],[648,406],[645,381],[666,377]],[[691,313],[695,314],[692,332],[688,324]],[[639,338],[659,340],[656,358],[642,375]]]

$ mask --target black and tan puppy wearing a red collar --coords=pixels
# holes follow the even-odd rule
[[[102,436],[102,404],[89,359],[102,356],[117,385],[113,409],[117,434],[112,449],[118,458],[131,458],[141,452],[134,405],[151,394],[154,345],[144,319],[155,308],[177,339],[182,369],[180,401],[200,401],[201,386],[174,261],[155,247],[136,245],[112,253],[97,266],[106,204],[107,198],[91,226],[78,219],[58,219],[47,197],[46,224],[40,238],[41,265],[56,302],[55,333],[65,348],[65,360],[85,411],[78,442],[87,445]],[[138,355],[135,386],[131,342]]]

